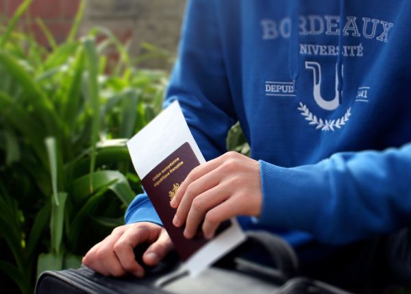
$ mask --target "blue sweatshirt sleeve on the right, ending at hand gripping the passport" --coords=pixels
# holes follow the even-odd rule
[[[260,160],[258,223],[344,244],[411,223],[411,143],[282,168]]]

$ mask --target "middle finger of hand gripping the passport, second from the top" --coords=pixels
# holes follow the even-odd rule
[[[217,168],[203,175],[188,186],[175,212],[173,224],[176,227],[181,227],[186,222],[188,212],[192,208],[192,201],[195,197],[217,186],[220,179],[221,173],[219,173],[219,169]]]

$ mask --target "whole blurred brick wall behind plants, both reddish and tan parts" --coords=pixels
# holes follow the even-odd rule
[[[49,47],[47,38],[36,23],[42,19],[56,42],[69,35],[81,0],[33,0],[29,13],[19,25],[33,32],[40,44]],[[102,26],[113,32],[123,44],[129,42],[132,56],[145,53],[142,42],[148,42],[175,55],[186,0],[86,0],[84,19],[79,34],[91,27]],[[0,19],[10,19],[23,0],[0,0]],[[109,56],[111,53],[108,52]],[[113,53],[112,60],[116,60]],[[169,68],[164,60],[149,60],[145,67]]]

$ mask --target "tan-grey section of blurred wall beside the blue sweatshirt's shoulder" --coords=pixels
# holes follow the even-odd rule
[[[177,52],[186,0],[88,0],[82,32],[103,26],[124,43],[132,56],[145,54],[142,42]],[[151,59],[140,66],[169,69],[164,60]]]

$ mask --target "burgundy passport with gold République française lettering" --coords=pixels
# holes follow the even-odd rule
[[[145,188],[164,228],[169,233],[175,249],[184,261],[208,243],[208,240],[203,238],[201,226],[195,238],[187,239],[184,237],[184,227],[176,228],[173,225],[176,209],[171,208],[170,201],[179,186],[186,179],[188,173],[197,165],[199,165],[199,160],[197,160],[190,144],[186,142],[173,151],[172,154],[160,162],[157,167],[141,180],[142,186]],[[223,232],[230,225],[231,221],[225,221],[220,225],[216,234]]]

